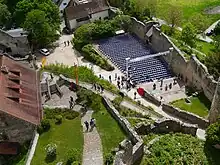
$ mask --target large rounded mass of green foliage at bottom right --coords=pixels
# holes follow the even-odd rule
[[[186,134],[167,134],[150,148],[151,154],[142,162],[148,164],[208,164],[204,142]]]

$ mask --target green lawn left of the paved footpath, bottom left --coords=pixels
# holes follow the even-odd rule
[[[49,143],[57,145],[57,157],[53,162],[46,162],[45,147]],[[55,125],[51,121],[51,128],[48,132],[40,135],[37,148],[32,160],[32,165],[54,165],[59,161],[66,163],[66,153],[69,149],[77,149],[82,155],[83,152],[83,132],[81,119],[77,117],[73,120],[63,119],[62,124]],[[81,162],[81,160],[79,160]]]

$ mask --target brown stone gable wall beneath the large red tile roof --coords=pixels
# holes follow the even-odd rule
[[[25,141],[31,140],[35,127],[29,122],[0,112],[0,133],[5,132],[11,142],[23,144]]]

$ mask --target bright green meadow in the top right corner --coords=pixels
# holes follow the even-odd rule
[[[165,16],[171,4],[181,6],[183,10],[183,23],[187,22],[190,17],[197,13],[204,14],[204,10],[209,7],[220,5],[219,0],[158,0],[157,3],[157,17],[163,19],[166,19]],[[207,17],[207,27],[220,19],[220,14],[204,15]]]

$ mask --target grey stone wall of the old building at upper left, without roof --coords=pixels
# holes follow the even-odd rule
[[[0,45],[11,48],[12,52],[9,53],[11,55],[19,54],[25,56],[30,53],[28,40],[25,38],[13,38],[6,32],[0,30]]]

